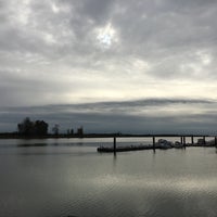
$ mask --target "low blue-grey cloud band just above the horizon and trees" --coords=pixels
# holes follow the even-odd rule
[[[191,108],[177,113],[166,110]],[[16,124],[26,116],[44,119],[50,129],[60,124],[62,131],[84,126],[87,132],[140,132],[140,133],[214,133],[217,127],[215,101],[182,99],[149,99],[129,102],[104,102],[68,105],[1,108],[0,122],[9,129],[16,130]],[[192,113],[192,107],[194,112]],[[206,114],[201,114],[205,108]],[[140,113],[145,111],[145,113]],[[163,115],[162,115],[163,112]],[[197,114],[196,114],[197,113]],[[3,129],[3,128],[2,128]],[[2,130],[1,129],[1,130]]]

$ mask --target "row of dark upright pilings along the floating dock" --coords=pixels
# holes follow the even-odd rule
[[[195,144],[194,143],[194,138],[195,137],[199,138],[199,136],[181,136],[180,137],[180,143],[183,144],[183,148],[187,146],[187,139],[186,138],[189,138],[189,137],[191,138],[191,143],[190,143],[191,145]],[[203,136],[202,138],[203,139],[201,140],[201,144],[205,145],[206,144],[206,136]],[[214,144],[217,148],[217,137],[214,137],[214,138],[215,138],[214,139]],[[152,141],[153,141],[153,150],[155,150],[156,149],[156,137],[155,136],[152,137]],[[116,137],[114,137],[113,149],[114,149],[114,152],[116,152],[116,149],[117,149]]]

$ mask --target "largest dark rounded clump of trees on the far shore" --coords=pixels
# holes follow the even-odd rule
[[[17,125],[18,133],[23,136],[46,136],[48,133],[48,124],[43,120],[31,122],[26,117]]]

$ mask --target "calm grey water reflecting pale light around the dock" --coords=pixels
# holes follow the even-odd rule
[[[0,216],[217,216],[215,148],[97,153],[111,141],[0,140]]]

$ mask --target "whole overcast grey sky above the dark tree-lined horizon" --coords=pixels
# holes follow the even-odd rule
[[[216,0],[0,0],[0,131],[216,133]]]

